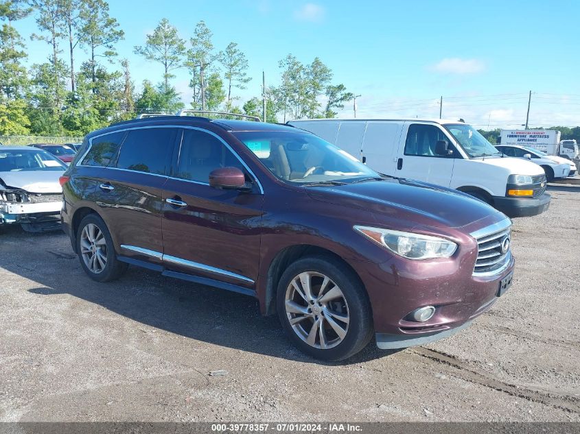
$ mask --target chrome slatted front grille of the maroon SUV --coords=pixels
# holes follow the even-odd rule
[[[489,226],[473,233],[477,241],[477,261],[474,267],[474,276],[499,273],[511,259],[511,222],[504,220],[500,224]],[[508,248],[505,247],[505,239],[508,239]]]

